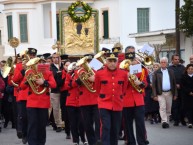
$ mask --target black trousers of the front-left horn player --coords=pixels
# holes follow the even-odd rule
[[[45,145],[48,109],[27,108],[29,145]]]

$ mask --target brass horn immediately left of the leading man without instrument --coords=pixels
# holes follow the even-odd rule
[[[81,80],[81,82],[84,84],[84,86],[90,91],[90,92],[96,92],[96,90],[93,88],[93,82],[90,82],[88,80],[89,77],[93,76],[95,73],[94,71],[90,68],[87,62],[88,57],[85,56],[82,59],[80,59],[77,63],[76,66],[81,66],[78,70],[78,77]]]

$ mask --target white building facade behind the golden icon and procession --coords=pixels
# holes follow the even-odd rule
[[[141,48],[145,43],[164,44],[171,40],[161,55],[167,55],[168,51],[174,52],[175,0],[84,1],[99,12],[100,49],[112,48],[116,42],[123,44],[124,48],[128,45]],[[14,55],[13,48],[8,44],[11,36],[21,41],[17,52],[34,47],[38,49],[38,54],[53,53],[51,47],[58,39],[57,14],[60,9],[67,9],[72,2],[75,1],[0,0],[0,58]],[[184,4],[183,0],[180,4]],[[106,27],[104,11],[108,12]],[[8,30],[10,27],[12,30]],[[104,33],[108,33],[105,38]],[[192,40],[183,34],[181,50],[182,58],[188,63],[188,57],[193,53]]]

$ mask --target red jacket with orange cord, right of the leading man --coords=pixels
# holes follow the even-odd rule
[[[136,74],[138,78],[140,78],[142,73]],[[143,74],[143,83],[145,87],[147,86],[146,74]],[[140,94],[137,92],[129,83],[126,91],[126,96],[123,99],[123,107],[134,107],[134,106],[142,106],[144,105],[144,94]]]

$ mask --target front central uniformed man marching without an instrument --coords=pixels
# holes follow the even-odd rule
[[[127,72],[117,68],[117,53],[107,53],[106,67],[95,74],[103,145],[117,145],[123,96],[128,84]]]

